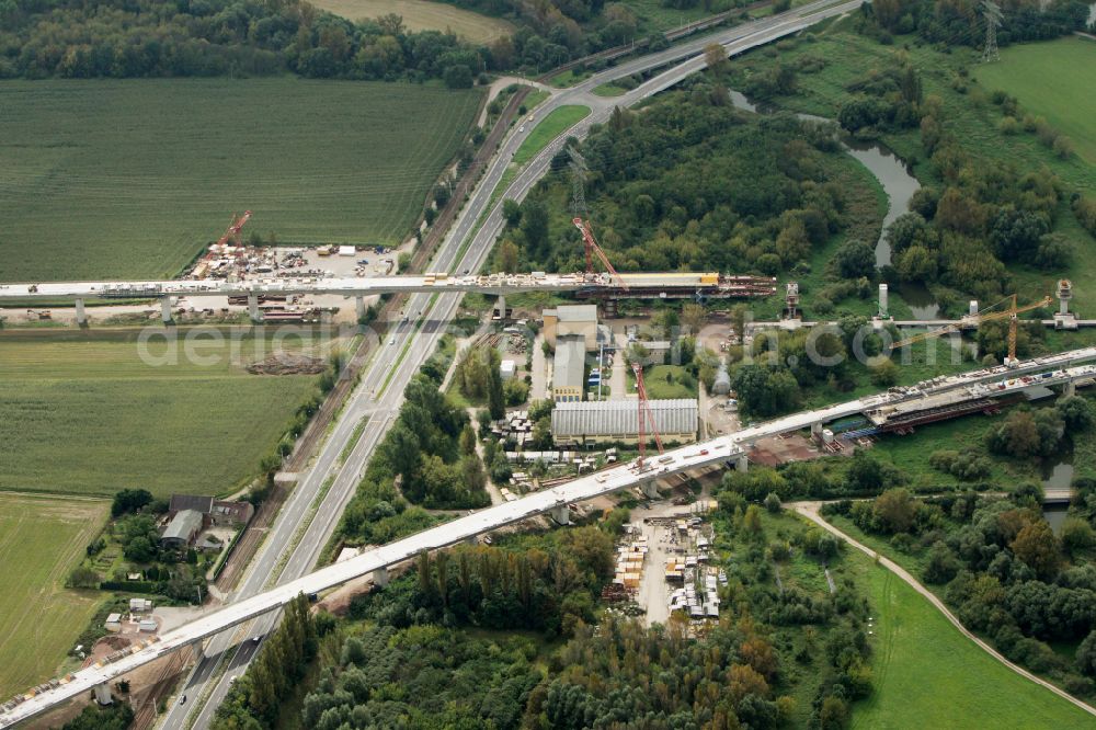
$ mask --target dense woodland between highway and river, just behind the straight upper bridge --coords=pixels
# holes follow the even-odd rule
[[[711,77],[686,80],[642,114],[616,110],[582,145],[596,235],[621,271],[776,274],[809,259],[845,224],[832,180],[833,129],[733,109]],[[507,206],[496,267],[574,271],[582,247],[563,225],[568,153],[521,205]],[[509,241],[509,243],[507,243]]]

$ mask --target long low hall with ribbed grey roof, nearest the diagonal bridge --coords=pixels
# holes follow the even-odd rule
[[[664,442],[696,441],[696,400],[682,398],[648,403]],[[639,438],[639,404],[635,400],[557,402],[551,413],[551,432],[557,445],[598,441],[635,443]]]

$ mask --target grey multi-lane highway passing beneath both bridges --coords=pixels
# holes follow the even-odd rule
[[[832,0],[814,2],[779,16],[766,18],[740,25],[738,27],[706,34],[696,39],[673,46],[665,50],[637,58],[614,68],[592,76],[584,82],[571,89],[560,90],[540,104],[536,110],[537,118],[544,118],[552,110],[570,104],[582,104],[591,109],[591,114],[578,125],[558,137],[541,153],[535,157],[526,168],[514,179],[504,195],[499,196],[483,225],[468,242],[459,262],[454,266],[464,243],[472,235],[477,221],[487,208],[498,183],[502,180],[510,160],[525,139],[525,134],[518,132],[521,122],[515,125],[510,135],[500,146],[499,152],[488,167],[483,179],[465,205],[449,235],[438,249],[431,267],[435,271],[455,271],[463,273],[466,269],[477,271],[487,260],[498,233],[502,229],[502,201],[514,198],[521,201],[536,182],[545,174],[551,157],[559,149],[563,139],[569,136],[583,137],[591,125],[608,119],[615,106],[629,106],[650,95],[678,83],[686,76],[705,67],[703,49],[711,43],[728,46],[730,53],[741,53],[750,47],[768,43],[769,41],[796,32],[825,16],[836,15],[859,7],[859,1],[834,3]],[[817,16],[810,21],[803,19],[812,13]],[[658,69],[669,64],[687,59],[669,70],[655,76],[647,83],[633,89],[623,96],[605,98],[593,92],[596,87],[625,76]],[[526,132],[532,127],[526,127]],[[436,300],[431,305],[432,297]],[[246,574],[240,588],[230,596],[230,601],[248,597],[267,588],[272,575],[279,563],[284,570],[277,583],[283,583],[309,572],[315,564],[320,550],[330,537],[339,515],[354,493],[359,475],[385,431],[402,402],[403,389],[419,366],[434,352],[437,341],[445,333],[448,321],[456,312],[460,295],[427,295],[416,294],[410,297],[404,311],[409,321],[401,322],[386,340],[370,343],[374,347],[373,361],[367,366],[362,383],[354,390],[343,413],[335,423],[312,467],[298,482],[294,493],[286,501],[270,535],[263,543],[251,569]],[[422,312],[422,316],[419,316]],[[388,344],[395,338],[395,344]],[[410,339],[410,343],[408,343]],[[407,353],[400,360],[401,352]],[[391,379],[385,387],[386,379]],[[350,443],[354,429],[361,419],[369,414],[369,422],[354,446],[346,463],[339,467],[338,458]],[[310,522],[304,536],[296,547],[294,536],[305,521],[310,507],[322,490],[323,483],[333,476],[331,488],[316,511],[316,518]],[[287,560],[283,560],[286,550],[290,550]],[[241,674],[248,662],[254,655],[259,643],[251,641],[254,636],[265,636],[276,624],[277,613],[255,619],[241,629],[225,631],[207,642],[205,658],[194,668],[180,689],[187,702],[178,702],[164,716],[162,726],[174,730],[189,727],[204,729],[209,727],[216,707],[224,699],[229,688],[229,680]],[[241,643],[242,640],[242,643]],[[217,672],[221,654],[228,652],[228,666],[218,675],[215,685],[210,677]],[[198,702],[205,698],[205,702]],[[196,711],[197,710],[197,711]],[[193,716],[193,717],[192,717]]]

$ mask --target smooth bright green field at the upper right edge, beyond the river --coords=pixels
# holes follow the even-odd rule
[[[1001,62],[978,66],[974,77],[1047,117],[1077,155],[1096,164],[1096,43],[1071,37],[1012,46],[1001,52]]]

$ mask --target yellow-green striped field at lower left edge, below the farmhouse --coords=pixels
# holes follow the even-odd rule
[[[5,449],[7,450],[7,449]],[[65,589],[110,502],[0,494],[0,697],[54,675],[102,596]]]

